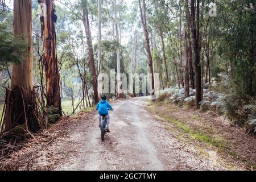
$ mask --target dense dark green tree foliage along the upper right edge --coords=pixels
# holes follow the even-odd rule
[[[245,94],[255,96],[256,14],[249,0],[219,1],[218,15],[212,20],[210,35],[216,42],[218,61],[233,65],[234,85],[244,88]]]

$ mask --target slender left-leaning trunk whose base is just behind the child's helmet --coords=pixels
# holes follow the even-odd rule
[[[83,18],[83,23],[84,23],[84,28],[85,28],[87,45],[89,48],[90,73],[92,74],[92,78],[93,78],[93,100],[94,100],[94,104],[96,105],[99,101],[98,87],[97,87],[97,75],[96,75],[96,69],[95,69],[95,63],[94,63],[92,35],[90,32],[87,0],[82,0],[82,18]]]

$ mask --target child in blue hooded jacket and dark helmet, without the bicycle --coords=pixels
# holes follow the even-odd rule
[[[98,110],[99,118],[98,118],[98,126],[101,127],[101,117],[102,115],[106,115],[106,118],[108,119],[107,123],[107,132],[109,133],[109,125],[110,125],[110,117],[109,117],[109,111],[113,110],[112,106],[110,106],[109,102],[106,101],[107,96],[104,94],[101,96],[101,101],[97,104],[96,109]]]

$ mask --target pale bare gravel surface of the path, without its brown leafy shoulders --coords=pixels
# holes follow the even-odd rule
[[[101,142],[97,122],[86,134],[77,158],[72,164],[61,164],[56,169],[75,170],[163,170],[154,143],[148,138],[148,126],[143,108],[144,98],[115,101],[110,113],[111,133]],[[94,121],[97,121],[97,115]],[[146,119],[147,120],[147,119]],[[80,138],[82,133],[74,133],[72,138]]]

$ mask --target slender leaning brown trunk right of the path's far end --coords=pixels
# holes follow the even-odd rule
[[[142,10],[143,7],[143,10]],[[143,25],[144,36],[146,39],[146,50],[147,50],[147,59],[148,59],[148,67],[150,69],[150,80],[151,80],[151,96],[152,100],[155,100],[155,80],[154,80],[154,72],[153,72],[153,65],[152,65],[152,56],[150,51],[150,40],[148,39],[148,31],[147,31],[147,19],[146,19],[146,3],[145,0],[139,0],[139,9],[141,11],[141,20]]]

